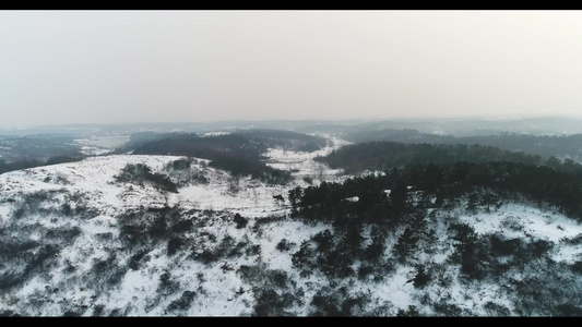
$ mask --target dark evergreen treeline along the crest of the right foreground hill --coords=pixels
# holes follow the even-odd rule
[[[357,201],[349,201],[354,196]],[[582,221],[579,174],[522,162],[408,165],[379,177],[289,191],[294,215],[336,226],[397,223],[414,208],[454,206],[463,197],[468,198],[468,210],[533,203]]]

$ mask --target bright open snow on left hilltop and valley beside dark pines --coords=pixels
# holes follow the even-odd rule
[[[204,171],[210,180],[207,184],[190,184],[179,189],[178,194],[162,194],[152,186],[140,187],[118,183],[114,177],[128,164],[145,164],[154,172],[158,172],[166,164],[183,157],[115,155],[4,173],[0,175],[0,191],[12,193],[62,189],[69,192],[79,191],[87,195],[92,207],[104,209],[104,214],[109,216],[129,207],[179,203],[199,209],[233,210],[241,215],[264,217],[285,213],[285,207],[273,196],[286,197],[290,187],[298,184],[307,185],[302,177],[309,175],[316,180],[337,180],[341,170],[331,170],[312,159],[329,154],[343,144],[340,140],[334,140],[332,146],[313,153],[271,149],[268,153],[272,162],[269,164],[270,166],[295,169],[296,180],[289,185],[265,185],[251,180],[250,177],[234,179],[225,171],[210,168],[206,165],[202,167],[202,162],[209,160],[199,159],[195,169]],[[0,217],[5,217],[7,210],[7,207],[0,206]]]

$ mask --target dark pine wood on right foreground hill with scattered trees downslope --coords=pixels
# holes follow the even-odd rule
[[[293,265],[302,276],[318,270],[329,278],[357,276],[380,280],[394,265],[381,259],[387,251],[401,264],[418,263],[415,257],[420,244],[430,246],[426,244],[440,242],[436,229],[428,226],[441,223],[447,226],[454,244],[450,264],[459,265],[466,282],[501,282],[506,278],[511,280],[515,269],[524,271],[536,267],[537,277],[528,281],[533,287],[515,282],[514,289],[509,290],[516,294],[518,314],[527,315],[534,311],[548,315],[582,313],[582,302],[577,295],[580,292],[577,274],[582,262],[562,267],[547,256],[554,246],[551,242],[479,235],[454,218],[460,209],[470,215],[494,214],[503,204],[524,203],[563,213],[582,222],[582,180],[572,173],[510,161],[407,165],[381,175],[296,187],[288,196],[293,217],[307,223],[323,222],[333,227],[313,235],[294,253]],[[435,214],[441,218],[436,219]],[[504,223],[508,229],[522,228],[516,222]],[[388,244],[387,235],[394,233],[397,240],[393,245]],[[354,265],[356,262],[359,266]],[[357,270],[354,267],[358,267]],[[539,278],[539,269],[546,271],[545,281]],[[415,288],[423,288],[438,280],[438,268],[417,264],[417,272],[409,281]],[[572,289],[563,288],[567,280]],[[318,312],[321,315],[349,313],[334,305],[333,296],[313,299],[313,302],[321,307]],[[443,315],[463,314],[447,305],[435,307],[442,310]],[[400,314],[417,313],[413,310]],[[497,314],[503,315],[502,312]]]

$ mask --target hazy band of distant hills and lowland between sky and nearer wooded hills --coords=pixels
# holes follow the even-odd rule
[[[211,133],[274,129],[299,133],[325,133],[349,142],[482,144],[508,150],[577,159],[582,120],[573,118],[527,119],[408,119],[385,121],[215,121],[132,124],[46,125],[0,130],[0,158],[4,160],[82,156],[83,146],[107,153],[139,133]],[[557,143],[556,143],[557,142]],[[36,145],[33,145],[35,144]],[[25,148],[36,148],[25,155]],[[41,148],[40,148],[41,147]],[[13,153],[11,149],[14,149]],[[20,152],[20,154],[17,154]],[[46,152],[46,155],[44,153]],[[85,150],[86,152],[86,150]]]

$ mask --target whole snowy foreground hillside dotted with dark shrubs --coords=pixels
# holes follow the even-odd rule
[[[0,313],[548,315],[556,312],[544,301],[556,301],[563,313],[580,314],[582,226],[525,205],[476,214],[428,208],[423,219],[382,234],[380,258],[355,261],[352,275],[299,269],[301,251],[317,251],[309,240],[334,227],[292,218],[288,191],[345,179],[313,160],[344,144],[333,141],[314,153],[270,149],[268,165],[295,177],[287,185],[176,156],[92,157],[1,174]],[[128,165],[150,167],[178,192],[120,182]],[[407,229],[418,235],[400,258],[394,249]],[[498,254],[488,256],[497,269],[488,277],[463,277],[455,258],[465,244],[461,231]],[[377,235],[365,226],[363,246]],[[542,283],[561,293],[536,290]]]

